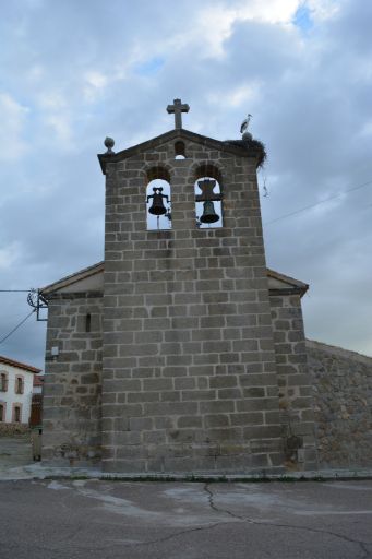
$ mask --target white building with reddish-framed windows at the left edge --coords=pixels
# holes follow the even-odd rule
[[[0,421],[28,424],[38,372],[36,367],[0,356]]]

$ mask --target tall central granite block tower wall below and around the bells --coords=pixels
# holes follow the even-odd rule
[[[280,471],[255,159],[188,140],[185,155],[165,142],[107,164],[104,468]],[[147,231],[146,183],[167,174],[172,229]],[[193,185],[211,174],[224,228],[197,229]]]

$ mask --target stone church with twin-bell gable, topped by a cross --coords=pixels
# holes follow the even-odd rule
[[[48,304],[43,460],[118,473],[284,473],[317,454],[301,297],[265,261],[264,147],[182,127],[98,155],[105,260]]]

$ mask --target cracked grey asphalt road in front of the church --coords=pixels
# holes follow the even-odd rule
[[[0,481],[1,559],[372,558],[372,481]]]

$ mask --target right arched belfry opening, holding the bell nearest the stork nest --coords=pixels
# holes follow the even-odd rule
[[[195,218],[200,229],[224,226],[221,174],[211,164],[201,165],[195,171]]]

